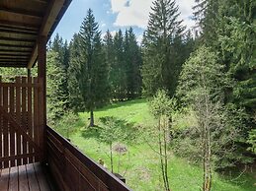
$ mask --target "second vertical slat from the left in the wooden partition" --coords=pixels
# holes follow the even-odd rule
[[[14,116],[14,87],[10,87],[10,114]],[[15,155],[15,129],[10,126],[10,156]],[[11,160],[11,166],[15,166],[16,160]]]

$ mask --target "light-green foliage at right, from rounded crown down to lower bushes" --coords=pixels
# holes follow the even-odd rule
[[[179,95],[185,97],[186,105],[192,105],[198,120],[195,127],[177,132],[182,141],[181,145],[178,144],[178,152],[187,157],[200,156],[201,126],[205,126],[210,130],[215,168],[252,161],[243,155],[240,148],[240,142],[244,139],[241,132],[246,128],[247,115],[244,109],[231,103],[224,104],[223,101],[224,90],[231,87],[231,80],[223,68],[216,54],[202,46],[184,64],[178,89]]]

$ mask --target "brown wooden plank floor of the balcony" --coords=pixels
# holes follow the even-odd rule
[[[39,162],[0,169],[0,191],[55,191],[50,177]]]

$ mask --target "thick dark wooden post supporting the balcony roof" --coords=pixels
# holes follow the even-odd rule
[[[45,127],[46,127],[46,36],[39,37],[39,57],[38,57],[38,73],[39,80],[42,85],[41,92],[39,94],[39,129],[40,140],[39,144],[43,150],[43,161],[45,161]]]

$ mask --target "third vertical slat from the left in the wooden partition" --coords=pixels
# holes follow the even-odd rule
[[[21,124],[21,78],[16,77],[16,120],[18,124]],[[17,132],[16,133],[16,150],[17,150],[17,155],[21,155],[21,135]],[[22,159],[17,159],[17,165],[22,164]]]

